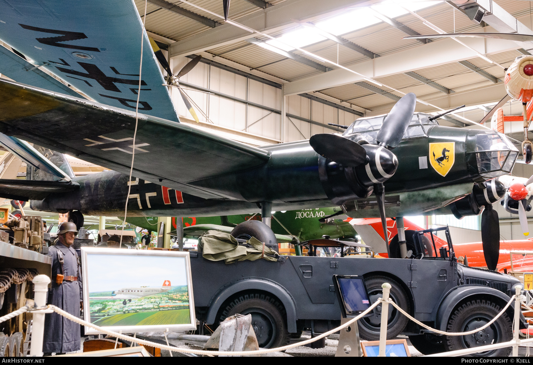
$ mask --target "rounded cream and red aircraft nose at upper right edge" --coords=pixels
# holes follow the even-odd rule
[[[518,56],[505,72],[505,90],[511,98],[528,102],[533,98],[533,56]]]

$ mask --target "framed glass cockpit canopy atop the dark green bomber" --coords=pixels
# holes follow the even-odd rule
[[[346,136],[353,133],[359,133],[366,137],[368,143],[375,144],[377,133],[379,132],[385,117],[386,115],[371,118],[359,118],[354,121],[342,135]],[[435,120],[429,120],[429,115],[425,113],[414,113],[407,131],[403,134],[402,140],[426,137],[427,131],[434,125],[438,125],[438,123]]]

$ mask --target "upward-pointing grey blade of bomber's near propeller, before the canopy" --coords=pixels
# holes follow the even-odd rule
[[[415,107],[416,95],[414,93],[407,93],[398,100],[385,117],[385,120],[383,120],[381,129],[379,129],[377,134],[379,145],[391,149],[400,143],[409,123],[411,123]]]

